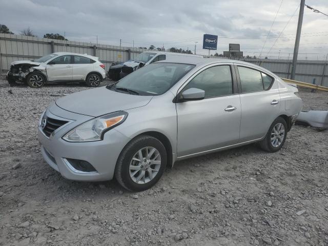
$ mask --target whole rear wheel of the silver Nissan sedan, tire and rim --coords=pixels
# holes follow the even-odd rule
[[[268,152],[280,150],[286,140],[287,124],[282,117],[276,118],[265,138],[259,142],[260,147]]]

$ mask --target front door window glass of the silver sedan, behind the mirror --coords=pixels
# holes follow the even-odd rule
[[[183,91],[190,88],[204,90],[205,97],[231,95],[233,92],[230,66],[216,66],[200,72]]]

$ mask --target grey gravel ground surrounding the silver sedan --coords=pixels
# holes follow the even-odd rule
[[[277,153],[249,145],[180,161],[133,194],[66,180],[42,158],[39,115],[86,89],[0,80],[0,245],[328,245],[328,131],[294,126]],[[304,109],[328,110],[328,93],[299,94]]]

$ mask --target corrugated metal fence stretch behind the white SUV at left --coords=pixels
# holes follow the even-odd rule
[[[54,50],[52,50],[51,42],[54,42]],[[94,54],[94,46],[97,47],[96,54]],[[137,54],[146,51],[131,47],[0,33],[0,73],[6,73],[10,69],[12,61],[31,60],[52,52],[72,52],[97,56],[108,70],[111,63],[115,61],[129,60],[129,49],[131,50],[131,58],[135,58]]]

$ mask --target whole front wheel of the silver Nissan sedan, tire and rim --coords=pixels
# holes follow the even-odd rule
[[[160,179],[167,165],[165,146],[155,137],[141,135],[122,150],[115,178],[130,191],[144,191]]]

